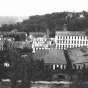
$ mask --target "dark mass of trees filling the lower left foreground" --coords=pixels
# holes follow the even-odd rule
[[[0,78],[9,78],[12,88],[29,88],[31,81],[41,80],[39,76],[44,70],[44,61],[34,60],[31,49],[25,48],[25,51],[28,55],[22,57],[18,49],[8,47],[8,41],[4,43],[4,50],[0,51]],[[9,63],[9,67],[4,66],[5,62]],[[21,80],[19,85],[18,80]]]

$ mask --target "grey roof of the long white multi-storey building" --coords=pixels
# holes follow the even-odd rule
[[[84,31],[56,31],[56,36],[86,36]]]

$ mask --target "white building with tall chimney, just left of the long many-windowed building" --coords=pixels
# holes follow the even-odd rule
[[[37,36],[37,37],[32,37],[31,36],[31,39],[32,39],[32,48],[33,48],[33,53],[35,53],[35,51],[38,49],[38,48],[55,48],[55,38],[50,38],[50,32],[49,32],[49,29],[47,29],[47,33],[43,33],[43,32],[34,32],[31,33],[33,36],[34,35],[42,35],[41,37],[40,36]]]

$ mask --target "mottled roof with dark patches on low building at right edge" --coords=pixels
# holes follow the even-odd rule
[[[88,48],[86,47],[69,49],[68,55],[73,64],[88,63]]]

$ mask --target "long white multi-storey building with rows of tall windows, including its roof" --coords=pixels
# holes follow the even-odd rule
[[[55,44],[58,49],[88,47],[88,36],[83,31],[56,31]]]

